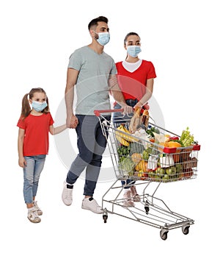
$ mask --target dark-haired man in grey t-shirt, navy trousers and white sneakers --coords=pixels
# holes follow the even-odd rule
[[[102,154],[106,149],[106,137],[103,135],[94,110],[110,109],[109,90],[114,99],[121,104],[125,113],[131,113],[117,85],[117,69],[114,60],[103,49],[109,43],[108,19],[100,16],[89,22],[89,34],[92,43],[81,47],[70,56],[67,68],[65,103],[67,109],[67,127],[75,128],[77,133],[78,155],[70,166],[62,192],[65,205],[73,202],[73,184],[86,168],[84,199],[81,207],[93,213],[103,213],[103,209],[93,199]],[[74,87],[76,85],[76,113],[73,114]],[[110,120],[111,116],[106,116]]]

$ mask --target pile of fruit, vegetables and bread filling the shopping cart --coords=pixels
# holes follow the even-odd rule
[[[118,124],[116,128],[121,178],[156,182],[196,178],[200,146],[188,127],[178,136],[154,124],[148,125],[149,117],[146,127],[143,115],[137,121],[138,115],[136,112],[133,122]]]

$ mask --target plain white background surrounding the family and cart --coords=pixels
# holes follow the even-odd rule
[[[217,4],[214,0],[1,1],[1,255],[216,252],[220,43]],[[75,185],[73,205],[63,205],[62,182],[67,168],[59,159],[52,136],[37,195],[43,209],[42,221],[32,224],[26,218],[17,153],[16,124],[21,99],[33,87],[44,88],[55,117],[64,96],[68,58],[75,49],[90,43],[87,24],[99,15],[109,18],[111,41],[105,51],[116,62],[125,59],[125,35],[139,33],[139,57],[155,65],[153,94],[163,111],[166,128],[180,134],[188,126],[202,145],[197,179],[165,184],[158,191],[172,210],[195,220],[188,235],[180,229],[171,230],[167,240],[162,241],[158,229],[115,215],[103,224],[102,216],[81,210],[82,179]],[[55,120],[55,126],[59,122]],[[98,183],[98,202],[110,185],[111,182]]]

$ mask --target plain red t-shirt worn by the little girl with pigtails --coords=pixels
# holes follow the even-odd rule
[[[23,138],[23,156],[48,154],[49,127],[54,124],[51,113],[29,114],[24,120],[18,120],[17,127],[25,130]]]

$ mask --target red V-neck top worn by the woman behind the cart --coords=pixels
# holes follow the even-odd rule
[[[156,77],[153,63],[142,60],[142,64],[133,72],[127,71],[123,67],[122,61],[116,63],[116,67],[118,83],[125,100],[142,99],[146,93],[147,79]]]

